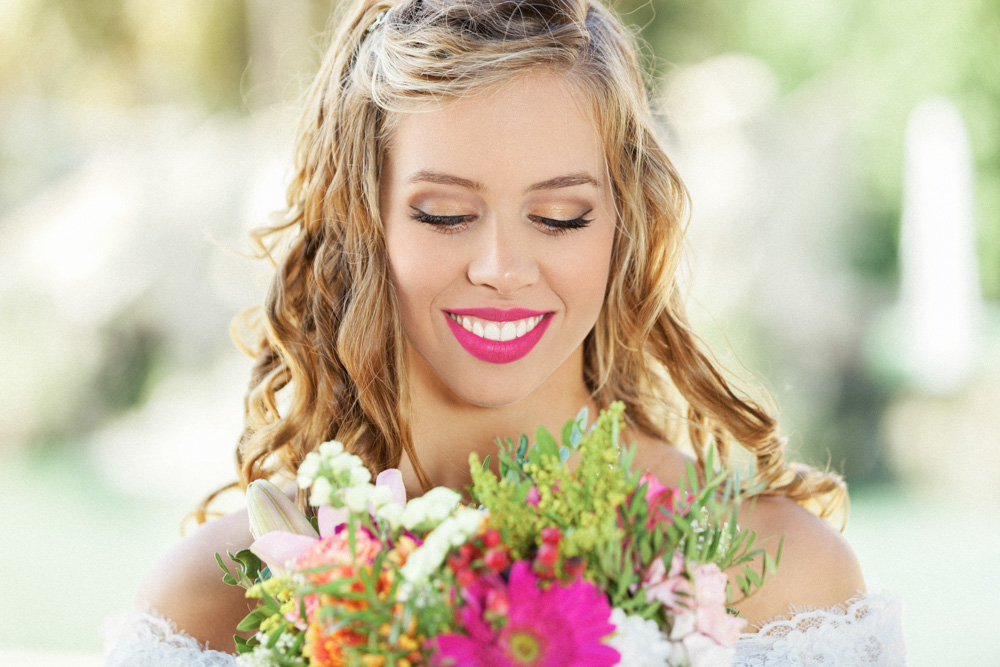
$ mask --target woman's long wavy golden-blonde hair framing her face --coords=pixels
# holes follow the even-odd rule
[[[278,239],[291,242],[263,307],[237,323],[256,361],[234,486],[292,473],[333,438],[375,472],[405,452],[430,484],[410,434],[379,215],[386,145],[400,114],[545,68],[592,100],[618,209],[607,298],[584,342],[594,400],[623,401],[630,427],[686,440],[702,464],[710,442],[724,462],[742,448],[765,494],[826,517],[846,507],[839,477],[786,462],[776,419],[690,330],[675,281],[688,197],[654,132],[637,53],[596,0],[359,0],[347,9],[308,96],[287,215],[255,235],[268,256]]]

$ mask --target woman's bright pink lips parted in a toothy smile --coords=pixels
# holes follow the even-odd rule
[[[548,328],[552,313],[523,308],[470,308],[444,314],[466,352],[481,361],[506,364],[531,352]]]

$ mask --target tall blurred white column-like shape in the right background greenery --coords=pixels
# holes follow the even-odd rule
[[[971,154],[950,101],[931,98],[913,110],[905,160],[901,361],[920,389],[947,394],[969,376],[982,318]]]

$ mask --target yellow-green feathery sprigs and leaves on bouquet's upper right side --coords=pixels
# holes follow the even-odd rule
[[[471,455],[473,495],[490,510],[490,525],[504,536],[512,557],[531,558],[542,544],[542,529],[555,526],[563,535],[563,562],[582,559],[585,577],[607,592],[612,606],[647,618],[661,613],[661,605],[645,599],[642,577],[657,559],[669,569],[675,552],[723,571],[743,566],[738,582],[744,596],[763,585],[778,559],[753,548],[756,535],[737,522],[741,503],[760,487],[716,470],[710,448],[704,483],[688,463],[680,504],[650,507],[648,485],[632,470],[635,450],[619,442],[623,411],[623,404],[612,404],[586,431],[582,410],[563,427],[561,446],[542,428],[534,445],[524,436],[517,444],[501,442],[499,476]],[[529,502],[533,490],[537,503]],[[763,558],[759,573],[749,565],[758,557]]]

